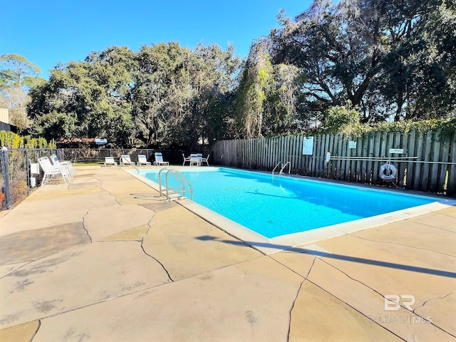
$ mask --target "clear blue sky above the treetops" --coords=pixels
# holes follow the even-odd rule
[[[108,46],[178,41],[233,43],[247,56],[252,40],[278,27],[276,15],[285,9],[294,18],[311,0],[19,0],[1,5],[0,55],[15,53],[35,63],[42,76],[57,63],[83,61]]]

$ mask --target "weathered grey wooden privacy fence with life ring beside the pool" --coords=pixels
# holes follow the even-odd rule
[[[310,155],[303,154],[304,143]],[[390,153],[390,149],[402,149],[403,153]],[[327,152],[334,158],[329,162]],[[220,140],[212,145],[212,162],[216,165],[271,171],[279,162],[290,162],[291,173],[296,175],[389,186],[390,182],[380,178],[380,166],[385,160],[376,160],[379,157],[393,158],[391,162],[398,172],[394,183],[398,187],[456,193],[456,132],[371,132],[358,138],[343,134],[307,138],[296,135]],[[414,158],[399,161],[395,160],[397,157]]]

